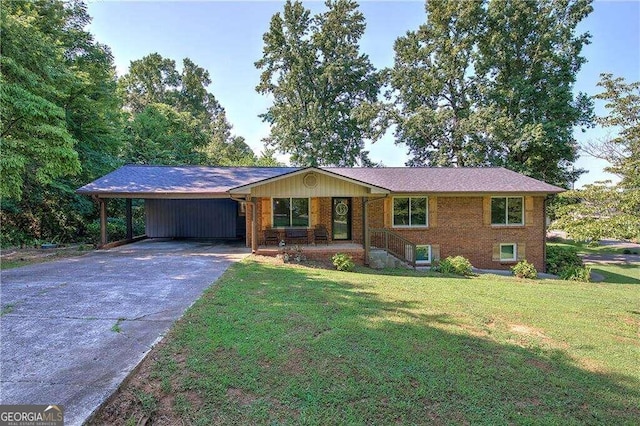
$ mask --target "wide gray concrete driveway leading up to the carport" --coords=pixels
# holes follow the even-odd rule
[[[239,245],[145,240],[2,271],[0,404],[81,424],[231,263]]]

